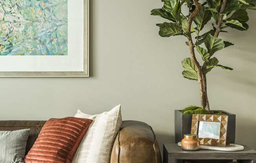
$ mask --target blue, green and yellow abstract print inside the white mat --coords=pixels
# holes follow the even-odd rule
[[[0,0],[0,55],[68,55],[67,0]]]

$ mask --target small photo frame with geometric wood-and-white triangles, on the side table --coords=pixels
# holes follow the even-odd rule
[[[193,114],[191,134],[197,134],[201,145],[226,147],[229,116]]]

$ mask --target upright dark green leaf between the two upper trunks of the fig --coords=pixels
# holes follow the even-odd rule
[[[194,18],[194,22],[197,25],[197,30],[201,31],[205,24],[209,22],[212,18],[212,15],[209,10],[205,6],[201,6],[199,13]]]

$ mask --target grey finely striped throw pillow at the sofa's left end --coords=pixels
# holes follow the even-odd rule
[[[29,130],[0,131],[0,163],[24,163]]]

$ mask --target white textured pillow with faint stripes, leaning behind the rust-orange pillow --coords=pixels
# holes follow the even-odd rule
[[[82,139],[72,163],[110,163],[115,137],[122,125],[121,105],[109,112],[89,115],[77,110],[75,117],[92,119],[93,123]]]

